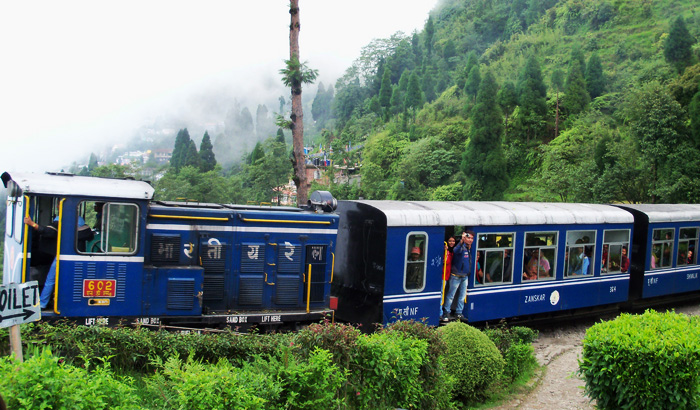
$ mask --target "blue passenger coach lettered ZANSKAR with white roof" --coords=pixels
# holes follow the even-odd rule
[[[476,233],[478,267],[468,279],[463,312],[469,322],[617,304],[628,297],[633,217],[613,206],[339,201],[338,213],[332,291],[341,320],[371,326],[426,319],[437,325],[445,243],[462,229]]]

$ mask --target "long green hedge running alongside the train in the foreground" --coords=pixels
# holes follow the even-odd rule
[[[271,335],[39,323],[22,326],[22,334],[25,357],[34,360],[41,356],[36,352],[50,346],[56,357],[44,357],[44,366],[72,369],[67,374],[76,375],[71,372],[84,374],[85,369],[88,375],[105,375],[104,369],[130,374],[134,380],[113,377],[123,383],[113,390],[124,391],[128,399],[122,406],[139,408],[138,403],[159,410],[452,409],[459,406],[455,400],[474,401],[503,388],[508,383],[501,378],[504,363],[517,372],[523,358],[532,359],[531,346],[518,341],[533,335],[499,329],[499,346],[507,346],[504,361],[487,336],[461,323],[436,329],[398,321],[370,335],[328,322]],[[138,386],[137,402],[129,401],[133,386]],[[44,387],[46,397],[61,394],[58,385]]]

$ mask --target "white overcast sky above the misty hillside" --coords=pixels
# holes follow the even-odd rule
[[[420,31],[437,0],[299,3],[301,60],[328,85],[373,39]],[[255,115],[265,93],[289,95],[289,22],[288,0],[2,2],[0,172],[87,163],[208,94]]]

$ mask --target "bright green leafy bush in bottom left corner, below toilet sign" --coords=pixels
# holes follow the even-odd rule
[[[10,409],[141,409],[132,379],[104,363],[90,372],[63,363],[50,348],[33,349],[22,363],[0,358],[0,379]]]

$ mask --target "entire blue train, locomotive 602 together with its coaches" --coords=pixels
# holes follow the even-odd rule
[[[327,192],[299,209],[156,201],[151,185],[134,180],[2,180],[4,281],[54,283],[44,319],[264,330],[327,317],[366,330],[399,319],[437,325],[445,243],[467,229],[475,232],[468,322],[700,290],[700,205],[359,200],[333,212]],[[50,225],[55,238],[36,229]]]

